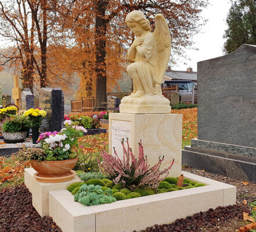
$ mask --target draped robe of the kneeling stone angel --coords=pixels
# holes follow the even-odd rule
[[[129,57],[135,62],[129,68],[135,68],[145,93],[161,95],[161,88],[156,83],[157,46],[152,33],[145,35],[142,45],[136,46],[135,56]]]

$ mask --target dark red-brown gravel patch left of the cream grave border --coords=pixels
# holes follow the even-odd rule
[[[61,232],[52,218],[41,218],[32,205],[31,193],[25,184],[0,193],[1,232]]]

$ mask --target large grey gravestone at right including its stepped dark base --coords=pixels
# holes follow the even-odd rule
[[[256,182],[256,46],[198,63],[198,140],[183,164]]]

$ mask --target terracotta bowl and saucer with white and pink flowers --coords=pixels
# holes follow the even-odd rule
[[[57,183],[73,179],[71,171],[77,164],[78,137],[83,136],[84,128],[68,126],[62,132],[41,133],[38,142],[44,155],[31,155],[31,166],[37,171],[34,177],[40,182]]]

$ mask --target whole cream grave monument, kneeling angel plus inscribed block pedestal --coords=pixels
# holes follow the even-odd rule
[[[128,50],[129,59],[135,62],[127,67],[134,84],[134,92],[121,100],[120,114],[109,116],[109,147],[115,147],[122,158],[122,139],[129,144],[138,157],[138,143],[142,145],[150,166],[164,155],[161,169],[174,166],[169,176],[181,174],[182,115],[171,114],[170,101],[161,92],[161,82],[171,52],[171,38],[167,22],[157,14],[156,30],[151,33],[149,21],[143,12],[134,10],[125,19],[136,35]]]

